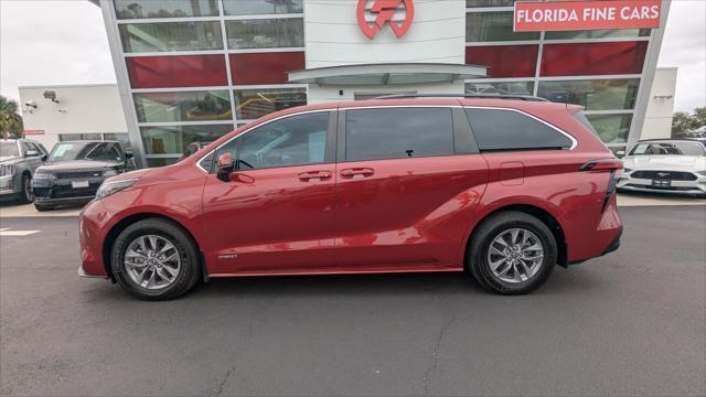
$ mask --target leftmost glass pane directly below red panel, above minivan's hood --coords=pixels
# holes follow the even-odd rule
[[[228,92],[137,93],[135,108],[140,122],[231,120]]]

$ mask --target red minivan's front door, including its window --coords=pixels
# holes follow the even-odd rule
[[[203,191],[211,272],[315,272],[335,266],[335,111],[257,126],[216,151],[236,160],[233,181]]]

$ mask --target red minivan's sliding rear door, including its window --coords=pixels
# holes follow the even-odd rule
[[[488,182],[460,108],[341,110],[336,258],[373,271],[458,268]]]

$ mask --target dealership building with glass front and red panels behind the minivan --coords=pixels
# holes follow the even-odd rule
[[[670,0],[634,0],[660,4],[657,28],[523,32],[513,0],[90,1],[142,165],[272,111],[387,94],[581,105],[614,151],[664,122],[646,111]]]

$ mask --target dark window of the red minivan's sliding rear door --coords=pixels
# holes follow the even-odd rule
[[[345,111],[345,160],[453,154],[450,108],[376,108]]]

